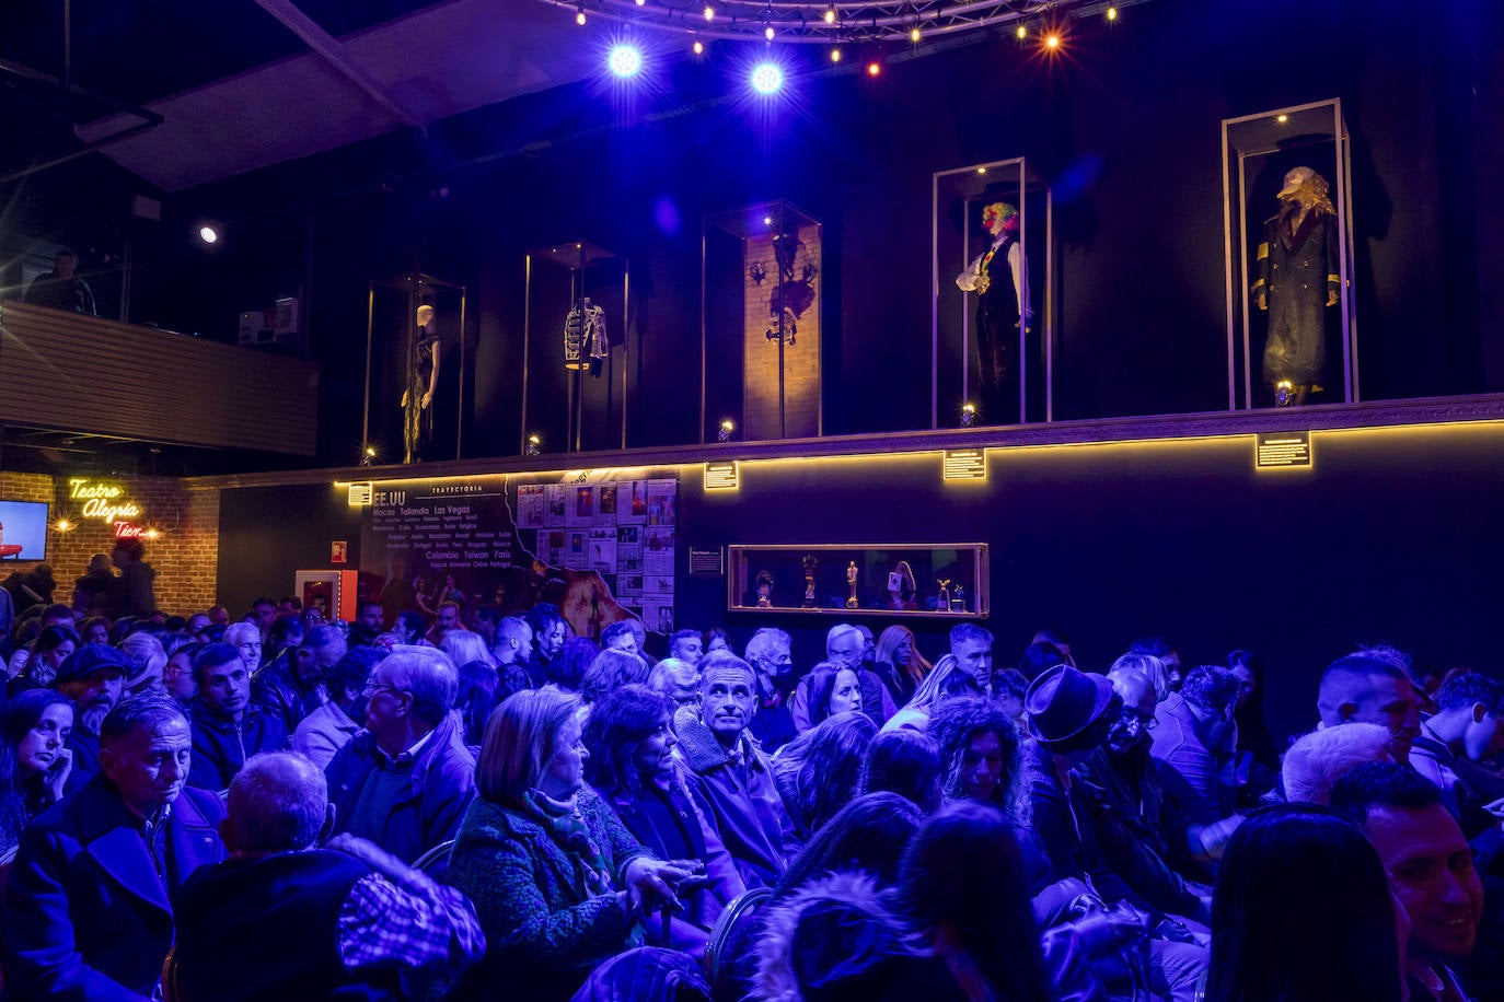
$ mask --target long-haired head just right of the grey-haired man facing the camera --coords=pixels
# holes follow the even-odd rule
[[[860,711],[827,717],[779,748],[773,757],[773,781],[793,822],[793,838],[803,846],[836,811],[857,795],[862,757],[877,735]]]

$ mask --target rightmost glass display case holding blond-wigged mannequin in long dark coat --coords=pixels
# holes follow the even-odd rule
[[[1301,213],[1301,200],[1316,209]],[[1342,101],[1223,120],[1223,239],[1227,409],[1357,403],[1352,158]]]

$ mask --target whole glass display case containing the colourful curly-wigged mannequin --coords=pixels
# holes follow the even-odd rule
[[[955,427],[966,404],[979,424],[1053,421],[1050,186],[1015,158],[935,171],[932,197],[931,427]]]

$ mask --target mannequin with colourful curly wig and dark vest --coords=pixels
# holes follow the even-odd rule
[[[1021,296],[1020,290],[1029,288],[1029,264],[1018,243],[1018,209],[1006,201],[991,203],[982,209],[982,228],[993,242],[955,276],[955,284],[961,291],[976,293],[982,395],[988,403],[1000,404],[1012,346],[1026,320],[1021,308],[1027,291]]]

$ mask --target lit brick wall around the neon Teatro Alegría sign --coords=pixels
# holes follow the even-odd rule
[[[140,524],[155,527],[156,539],[143,539],[146,562],[156,568],[156,604],[167,613],[186,614],[214,605],[215,575],[220,559],[220,491],[186,490],[162,476],[137,476],[119,481],[141,508]],[[80,517],[81,505],[68,496],[68,478],[41,473],[0,472],[0,497],[41,500],[53,508],[47,532],[47,562],[57,590],[53,598],[72,599],[72,584],[89,566],[89,557],[114,548],[113,529]],[[59,520],[72,523],[59,532]],[[3,574],[30,571],[33,562],[0,565]]]

